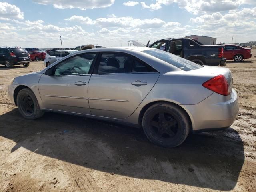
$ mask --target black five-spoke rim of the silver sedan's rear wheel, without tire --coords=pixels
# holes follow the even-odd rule
[[[168,139],[176,136],[179,123],[169,112],[158,112],[152,116],[150,130],[158,140]]]

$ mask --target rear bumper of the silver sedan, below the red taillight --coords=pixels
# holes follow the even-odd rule
[[[228,99],[227,99],[228,98]],[[236,120],[239,105],[236,91],[229,96],[213,93],[196,105],[184,105],[188,110],[194,132],[228,128]]]

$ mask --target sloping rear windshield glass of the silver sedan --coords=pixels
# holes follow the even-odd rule
[[[154,49],[154,50],[145,50],[142,51],[146,54],[149,54],[153,57],[156,57],[160,60],[163,60],[181,70],[184,71],[190,71],[190,70],[195,70],[195,69],[199,69],[202,68],[203,66],[196,64],[192,61],[186,60],[184,58],[181,58],[179,56],[176,56],[174,54],[159,50],[159,49]]]

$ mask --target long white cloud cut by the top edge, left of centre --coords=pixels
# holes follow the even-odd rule
[[[79,8],[81,10],[109,7],[115,0],[33,0],[38,4],[52,4],[58,9]]]

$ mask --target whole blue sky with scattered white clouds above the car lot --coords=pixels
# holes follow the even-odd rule
[[[256,41],[256,0],[0,0],[0,46],[128,46],[212,36]]]

